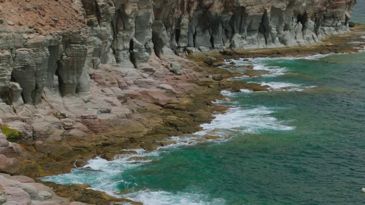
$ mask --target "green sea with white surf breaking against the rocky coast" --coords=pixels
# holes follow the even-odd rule
[[[365,23],[365,1],[352,16]],[[364,59],[365,52],[234,60],[254,68],[231,71],[262,77],[233,80],[270,92],[222,91],[227,99],[214,103],[230,106],[226,113],[204,131],[172,138],[176,144],[137,150],[147,161],[95,158],[92,169],[41,179],[145,205],[365,204]],[[197,140],[205,134],[222,139]]]

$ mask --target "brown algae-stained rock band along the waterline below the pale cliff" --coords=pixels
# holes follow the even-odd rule
[[[47,175],[69,173],[75,166],[82,167],[88,159],[95,156],[113,160],[114,157],[118,155],[135,154],[135,151],[133,151],[134,149],[143,148],[146,151],[154,151],[159,146],[167,146],[174,143],[169,140],[169,136],[179,136],[199,131],[201,130],[199,125],[202,123],[209,123],[213,119],[213,113],[224,112],[227,108],[219,107],[211,103],[216,99],[223,98],[220,94],[220,90],[228,89],[231,90],[231,92],[239,92],[239,89],[257,89],[258,91],[266,89],[258,84],[246,84],[226,80],[227,78],[233,78],[240,74],[230,73],[226,69],[208,65],[204,62],[207,59],[207,55],[216,58],[215,61],[218,62],[218,65],[224,65],[224,59],[234,58],[303,56],[318,53],[351,53],[357,52],[359,49],[349,42],[357,41],[365,43],[365,39],[361,38],[361,36],[364,35],[364,32],[365,26],[359,25],[356,27],[356,30],[354,29],[353,32],[349,34],[330,36],[323,40],[322,43],[312,46],[289,47],[277,50],[249,50],[244,53],[241,53],[242,51],[232,51],[232,55],[223,55],[216,52],[188,56],[188,59],[195,62],[195,65],[197,66],[192,67],[191,70],[187,69],[185,71],[186,74],[195,73],[197,75],[197,73],[199,73],[201,76],[189,80],[184,79],[185,81],[183,81],[181,80],[181,76],[173,75],[175,79],[170,80],[170,82],[177,81],[180,84],[186,83],[189,84],[189,86],[194,86],[195,89],[185,92],[184,97],[180,97],[178,103],[166,104],[164,107],[160,106],[157,109],[155,108],[157,105],[143,104],[143,102],[137,101],[140,105],[145,105],[145,107],[139,108],[138,112],[152,115],[150,119],[146,120],[144,123],[154,124],[153,128],[148,131],[131,129],[124,133],[116,131],[109,133],[107,137],[101,134],[92,135],[91,137],[88,137],[88,139],[91,138],[91,140],[85,140],[85,137],[82,139],[79,138],[77,141],[75,140],[74,146],[72,146],[73,149],[63,151],[64,148],[61,148],[57,150],[57,154],[51,153],[44,155],[35,151],[34,148],[20,145],[26,150],[23,151],[23,154],[26,154],[29,159],[23,158],[23,160],[13,163],[11,166],[7,167],[6,172],[11,175],[27,175],[34,178],[43,177]],[[359,43],[359,45],[362,44]],[[273,54],[278,52],[283,53]],[[234,66],[230,65],[229,62],[226,64]],[[214,75],[221,76],[221,79],[213,80],[211,77],[205,77]],[[145,112],[141,111],[141,109],[144,109]],[[159,119],[157,120],[156,117]],[[10,176],[7,175],[7,177]],[[29,178],[28,180],[32,181],[33,179]],[[88,204],[110,204],[117,200],[128,201],[125,199],[108,197],[102,192],[85,189],[87,185],[65,186],[57,185],[53,182],[43,182],[39,179],[35,179],[35,181],[52,187],[53,192],[51,194],[57,194],[59,197],[68,198],[66,204],[70,202],[69,200],[85,202]],[[56,199],[58,198],[56,197]],[[132,203],[138,204],[138,202]]]

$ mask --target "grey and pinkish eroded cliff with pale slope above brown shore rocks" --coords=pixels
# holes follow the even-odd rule
[[[318,42],[348,31],[355,3],[7,0],[0,3],[0,125],[13,142],[44,153],[90,133],[149,129],[158,122],[145,123],[153,116],[141,110],[157,112],[196,86],[179,84],[200,75],[185,72],[196,66],[185,54]],[[3,141],[12,154],[0,171],[22,155]]]

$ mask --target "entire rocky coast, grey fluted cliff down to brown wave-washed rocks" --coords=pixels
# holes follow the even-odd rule
[[[18,176],[154,151],[224,112],[212,103],[221,90],[268,91],[227,80],[242,74],[219,68],[225,59],[355,52],[349,42],[364,42],[364,26],[343,34],[356,0],[308,2],[1,0],[0,173],[12,176],[0,176],[0,205],[128,202]]]

